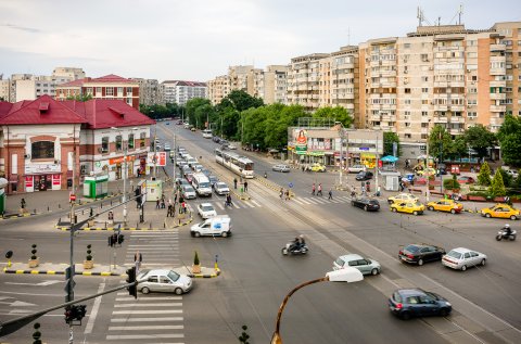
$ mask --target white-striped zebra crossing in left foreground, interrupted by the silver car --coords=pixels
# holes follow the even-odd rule
[[[132,232],[125,265],[134,265],[134,255],[141,253],[142,268],[174,268],[182,266],[179,259],[178,230],[162,232]],[[125,281],[122,281],[125,283]],[[183,344],[185,326],[182,295],[138,292],[138,298],[120,291],[116,294],[106,332],[107,343]]]

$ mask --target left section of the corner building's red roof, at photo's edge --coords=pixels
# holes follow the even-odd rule
[[[8,107],[7,105],[0,106],[0,125],[49,125],[87,122],[79,114],[47,94],[34,101],[14,103],[7,113],[1,114],[1,111]]]

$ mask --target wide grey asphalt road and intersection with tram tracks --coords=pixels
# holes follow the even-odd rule
[[[158,125],[164,140],[171,137],[170,126]],[[233,175],[215,164],[216,144],[199,132],[177,127],[177,142],[221,180],[232,184]],[[170,139],[171,140],[171,139]],[[231,238],[191,238],[187,228],[161,232],[131,232],[117,249],[116,263],[131,264],[136,250],[143,252],[143,265],[150,267],[191,265],[193,252],[212,266],[217,255],[221,276],[198,279],[189,294],[139,294],[137,301],[126,292],[87,303],[88,317],[74,329],[75,340],[84,343],[232,343],[249,326],[252,343],[269,342],[278,307],[295,285],[322,277],[341,254],[360,253],[379,260],[382,275],[363,282],[318,283],[298,291],[290,300],[282,317],[284,343],[517,343],[521,335],[521,251],[517,242],[496,242],[494,232],[504,224],[475,214],[445,215],[428,213],[404,216],[385,206],[378,214],[364,213],[350,205],[346,193],[333,192],[333,201],[313,198],[313,182],[329,190],[338,174],[290,174],[270,171],[270,162],[252,156],[257,174],[268,170],[268,181],[282,187],[294,184],[295,198],[284,202],[276,190],[251,180],[251,201],[234,200],[237,207],[223,209],[224,200],[214,195],[218,213],[232,217]],[[171,170],[168,163],[167,170]],[[350,182],[352,177],[350,177]],[[325,192],[327,193],[327,192]],[[325,198],[326,199],[326,198]],[[191,201],[195,208],[201,200]],[[130,209],[134,211],[134,209]],[[20,222],[1,224],[0,252],[29,250],[50,262],[68,260],[68,233],[53,229],[52,215]],[[303,257],[283,257],[282,245],[303,233],[310,252]],[[30,239],[28,239],[30,238]],[[27,242],[30,240],[30,243]],[[429,242],[445,249],[469,246],[488,255],[485,267],[466,272],[453,271],[432,263],[407,266],[397,259],[402,245]],[[80,232],[76,239],[75,260],[82,260],[85,246],[93,243],[96,260],[110,264],[113,252],[106,247],[105,232]],[[16,260],[16,259],[15,259]],[[22,260],[22,258],[20,258]],[[123,278],[77,277],[76,297],[118,285]],[[21,283],[21,284],[15,284]],[[2,275],[0,280],[0,320],[35,311],[63,301],[63,276]],[[398,286],[421,286],[446,296],[454,305],[447,318],[402,321],[386,307],[386,298]],[[63,311],[40,319],[45,342],[63,343],[68,329]],[[31,328],[26,327],[2,341],[27,343]]]

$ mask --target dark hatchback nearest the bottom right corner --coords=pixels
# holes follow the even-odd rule
[[[411,317],[446,317],[453,305],[442,296],[421,289],[398,289],[389,298],[391,311],[404,320]]]

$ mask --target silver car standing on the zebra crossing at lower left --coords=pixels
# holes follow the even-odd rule
[[[173,270],[141,270],[137,278],[138,291],[143,294],[150,292],[175,293],[177,295],[188,293],[192,289],[192,279],[186,275],[177,273]]]

